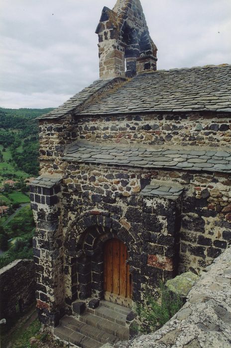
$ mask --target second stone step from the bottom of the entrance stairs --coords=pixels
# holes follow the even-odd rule
[[[86,323],[80,322],[74,317],[65,316],[60,322],[62,327],[73,330],[81,335],[87,336],[94,339],[102,344],[105,343],[116,343],[118,338],[107,332],[104,332],[96,327],[92,327]]]

